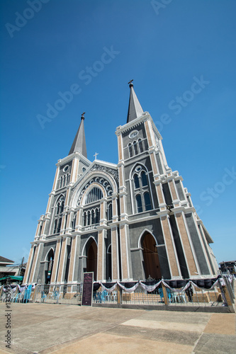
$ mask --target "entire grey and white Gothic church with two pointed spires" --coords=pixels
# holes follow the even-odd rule
[[[89,161],[82,115],[68,156],[56,164],[24,283],[73,285],[88,271],[102,282],[218,274],[213,240],[131,82],[127,122],[116,136],[118,164]]]

